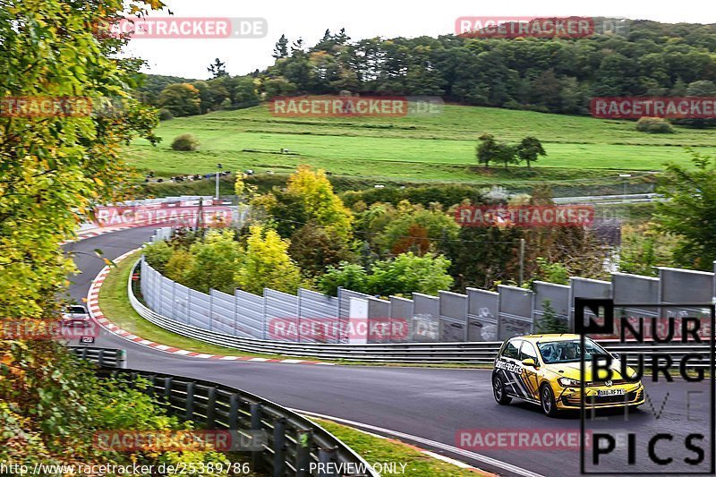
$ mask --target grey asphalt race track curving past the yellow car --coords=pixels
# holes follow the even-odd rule
[[[107,258],[114,259],[141,246],[153,230],[154,227],[134,228],[65,245],[66,251],[84,252],[75,256],[82,273],[72,278],[72,297],[78,301],[86,297],[91,280],[104,267],[103,261],[92,253],[94,249],[100,249]],[[379,426],[448,446],[459,446],[456,441],[459,430],[578,431],[580,428],[578,413],[550,419],[542,415],[535,405],[517,402],[508,406],[497,405],[492,397],[490,371],[221,362],[162,353],[106,331],[103,333],[96,345],[126,349],[130,368],[222,382],[287,407]],[[600,420],[590,428],[626,429],[636,433],[639,447],[635,467],[626,466],[627,454],[623,445],[618,444],[617,450],[609,457],[612,464],[623,464],[619,473],[663,472],[660,466],[650,463],[642,442],[659,432],[671,432],[675,436],[672,442],[662,442],[656,447],[665,456],[669,452],[675,459],[694,456],[694,453],[685,453],[683,435],[703,426],[707,429],[708,424],[713,422],[709,417],[709,381],[688,385],[680,381],[644,384],[648,395],[652,396],[653,412],[650,405],[644,405],[642,410],[629,413],[626,423],[623,412],[609,413],[599,416]],[[692,395],[689,408],[683,397],[686,388],[703,393]],[[659,414],[667,393],[669,398]],[[658,419],[655,414],[659,415]],[[708,442],[708,432],[706,439],[702,447],[712,449],[713,442]],[[438,448],[432,450],[503,475],[541,474],[551,477],[580,473],[578,448],[475,449],[474,452],[480,456],[460,455]],[[481,456],[518,468],[482,459]],[[707,451],[706,459],[710,457]]]

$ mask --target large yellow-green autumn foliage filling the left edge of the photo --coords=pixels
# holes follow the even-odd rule
[[[95,107],[112,96],[123,104],[116,115],[80,109],[77,115],[0,117],[4,324],[14,321],[24,328],[41,320],[49,326],[60,318],[67,277],[75,271],[72,251],[65,252],[61,243],[75,236],[93,204],[127,199],[131,175],[123,162],[124,143],[139,137],[158,142],[152,133],[156,110],[132,97],[141,62],[117,55],[125,39],[98,35],[89,26],[163,6],[159,1],[90,0],[78,6],[65,0],[4,0],[4,100],[91,98]],[[102,263],[100,257],[95,260]],[[210,460],[211,453],[98,451],[92,439],[98,430],[186,429],[141,392],[146,384],[132,383],[132,389],[118,380],[98,379],[93,367],[55,341],[0,336],[0,462],[76,469],[77,464]]]

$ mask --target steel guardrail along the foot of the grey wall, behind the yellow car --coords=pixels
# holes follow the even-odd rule
[[[139,263],[139,262],[137,262]],[[136,268],[137,264],[134,265]],[[178,335],[191,337],[200,341],[221,345],[249,353],[271,353],[286,356],[310,357],[326,360],[346,360],[359,362],[404,362],[404,363],[469,363],[491,364],[499,351],[501,342],[475,342],[475,343],[405,343],[405,344],[368,344],[347,345],[333,343],[291,343],[284,341],[270,341],[241,336],[231,336],[204,328],[197,328],[185,323],[168,319],[155,311],[149,310],[134,295],[132,289],[132,274],[127,284],[127,294],[135,311],[142,318],[165,328]],[[636,364],[636,354],[646,355],[659,352],[669,353],[673,362],[679,362],[685,353],[706,353],[708,345],[630,345],[618,342],[603,342],[611,353],[628,353],[627,362]],[[705,365],[704,365],[705,366]]]

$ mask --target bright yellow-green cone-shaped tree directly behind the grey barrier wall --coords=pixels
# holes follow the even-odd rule
[[[263,294],[264,288],[295,294],[301,272],[288,255],[289,245],[275,230],[251,226],[246,252],[237,263],[236,285],[251,294]]]

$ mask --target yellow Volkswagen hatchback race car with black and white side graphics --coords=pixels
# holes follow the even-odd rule
[[[508,405],[514,397],[541,405],[554,416],[562,409],[581,408],[579,335],[529,335],[508,339],[499,348],[492,371],[492,391],[499,405]],[[635,408],[644,404],[644,386],[636,372],[616,356],[610,379],[592,380],[592,356],[609,352],[589,338],[584,340],[584,406],[588,408]]]

